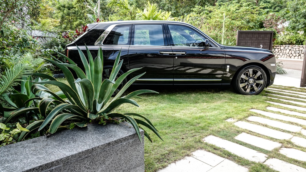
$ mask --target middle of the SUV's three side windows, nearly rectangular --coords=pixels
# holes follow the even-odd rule
[[[134,28],[134,45],[165,45],[161,24],[138,24]]]

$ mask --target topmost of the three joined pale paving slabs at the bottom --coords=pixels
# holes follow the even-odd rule
[[[225,158],[222,158],[221,156],[203,150],[197,150],[195,152],[192,152],[191,154],[193,158],[198,159],[203,163],[207,163],[212,167],[215,167],[216,165],[225,160]]]

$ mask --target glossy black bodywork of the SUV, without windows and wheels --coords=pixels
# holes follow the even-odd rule
[[[174,46],[171,42],[172,38],[169,35],[169,30],[166,29],[167,23],[184,25],[192,28],[203,35],[205,39],[209,40],[211,44],[210,49],[205,50],[204,47]],[[99,35],[93,34],[93,32],[97,32],[97,30],[105,31],[114,24],[132,25],[130,45],[94,46],[92,42],[95,42],[97,37],[88,37],[87,35]],[[133,29],[135,24],[162,24],[165,45],[133,45]],[[86,41],[84,41],[86,39],[90,41],[86,43]],[[229,85],[240,68],[247,65],[258,65],[266,71],[268,77],[266,86],[270,86],[273,84],[276,74],[276,66],[271,66],[271,64],[276,64],[276,59],[270,50],[252,47],[223,46],[192,25],[182,22],[116,21],[103,22],[95,25],[91,24],[86,34],[66,46],[66,49],[69,50],[69,58],[74,60],[79,67],[82,67],[82,64],[75,45],[79,46],[85,56],[87,56],[84,43],[86,43],[90,49],[93,57],[96,57],[99,47],[103,48],[104,65],[113,65],[114,59],[121,50],[120,58],[124,60],[124,65],[122,67],[123,71],[142,67],[141,70],[133,72],[130,77],[146,72],[146,74],[140,78],[142,80],[136,81],[135,84]],[[167,54],[165,52],[170,53]],[[180,52],[185,54],[180,54]],[[229,71],[226,71],[227,66],[229,66]],[[150,81],[145,81],[144,79]],[[184,81],[184,79],[188,79],[188,81]],[[201,81],[197,79],[201,79]]]

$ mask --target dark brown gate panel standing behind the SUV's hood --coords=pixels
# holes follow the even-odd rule
[[[273,31],[237,31],[236,45],[263,48],[272,51]]]

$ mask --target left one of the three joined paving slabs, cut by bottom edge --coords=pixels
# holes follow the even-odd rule
[[[189,156],[169,164],[166,168],[159,170],[159,172],[207,172],[211,168],[212,166]]]

